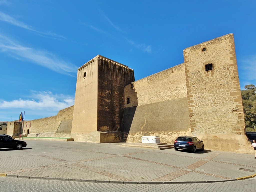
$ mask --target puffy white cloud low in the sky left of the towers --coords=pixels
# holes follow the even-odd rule
[[[0,102],[0,108],[20,108],[22,110],[44,110],[44,111],[56,111],[65,109],[74,105],[74,98],[70,95],[57,95],[52,94],[49,91],[36,92],[30,96],[31,99],[18,99],[12,101]]]

